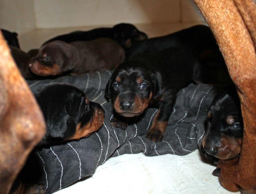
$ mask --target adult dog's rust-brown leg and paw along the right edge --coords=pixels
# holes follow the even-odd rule
[[[254,0],[194,0],[213,31],[241,101],[240,159],[224,162],[219,181],[230,191],[256,192],[256,54]]]

